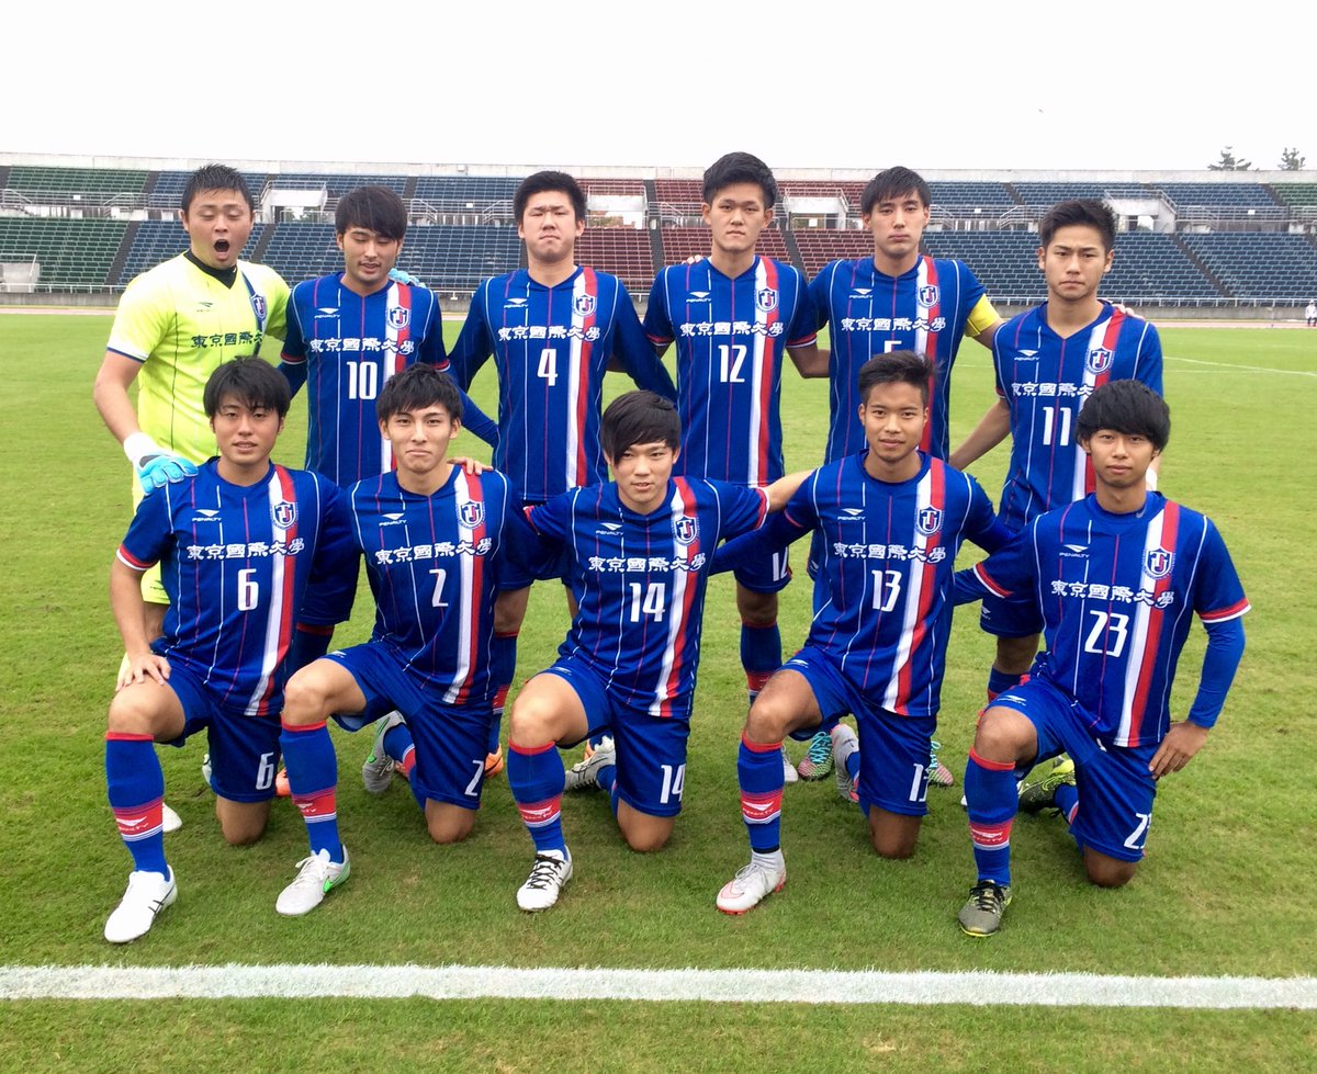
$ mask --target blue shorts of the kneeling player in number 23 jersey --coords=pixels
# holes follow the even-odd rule
[[[1071,832],[1080,846],[1092,846],[1118,861],[1141,861],[1152,825],[1156,780],[1148,762],[1160,742],[1113,746],[1089,732],[1092,720],[1079,703],[1044,679],[1013,686],[990,708],[1021,713],[1038,733],[1038,757],[1022,765],[1033,767],[1060,753],[1075,762],[1079,811]]]

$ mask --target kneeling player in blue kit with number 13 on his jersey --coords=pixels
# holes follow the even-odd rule
[[[869,359],[859,375],[864,451],[815,470],[764,530],[718,553],[715,570],[817,532],[822,596],[805,648],[745,720],[736,769],[751,861],[718,892],[724,913],[744,913],[786,882],[777,763],[786,734],[830,730],[838,788],[868,819],[873,849],[914,853],[956,551],[965,537],[993,551],[1009,536],[973,478],[919,450],[932,372],[913,351]],[[847,712],[859,738],[839,723]]]

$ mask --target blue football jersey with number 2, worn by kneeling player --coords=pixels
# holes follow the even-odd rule
[[[487,707],[500,575],[520,563],[525,523],[507,479],[454,466],[433,495],[396,474],[354,484],[348,509],[375,598],[373,642],[420,674],[446,704]]]

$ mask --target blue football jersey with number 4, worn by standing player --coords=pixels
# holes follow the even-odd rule
[[[554,287],[525,268],[485,280],[449,357],[458,387],[470,387],[491,354],[499,380],[494,466],[532,503],[607,480],[599,415],[611,361],[641,388],[677,397],[627,288],[583,266]]]

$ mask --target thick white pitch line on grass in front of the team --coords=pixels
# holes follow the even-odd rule
[[[1317,1010],[1317,978],[507,966],[0,966],[0,999],[403,999]]]

